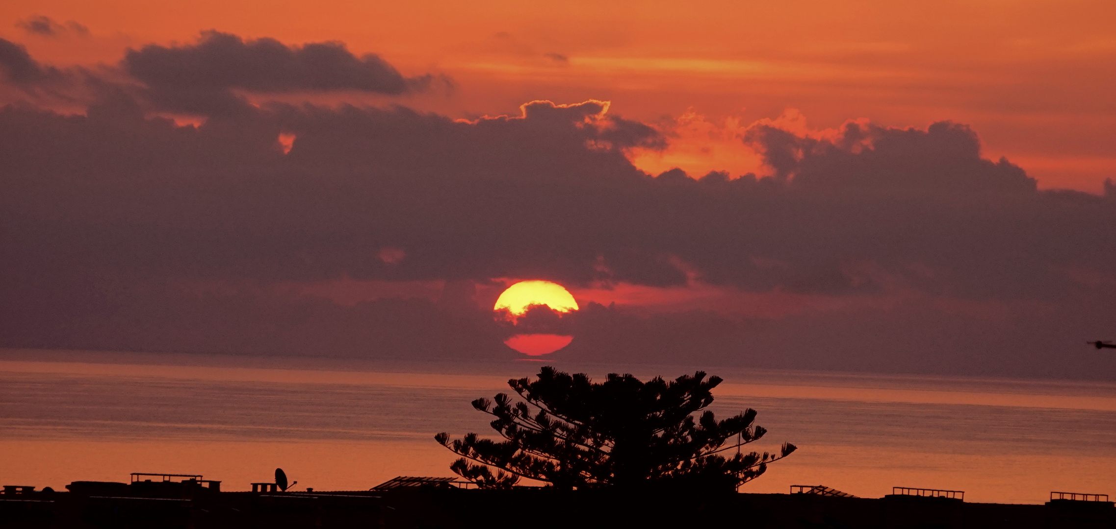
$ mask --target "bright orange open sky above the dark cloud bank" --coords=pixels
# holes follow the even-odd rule
[[[32,14],[88,37],[46,38]],[[758,170],[738,127],[788,114],[810,128],[866,118],[971,125],[985,154],[1042,187],[1099,192],[1116,173],[1116,4],[974,0],[694,2],[291,2],[9,0],[0,38],[55,65],[115,62],[127,47],[204,29],[287,43],[340,40],[405,74],[451,76],[452,94],[375,99],[456,117],[533,99],[609,99],[613,112],[677,136],[658,172]]]

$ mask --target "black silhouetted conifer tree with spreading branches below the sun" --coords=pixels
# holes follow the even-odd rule
[[[720,383],[701,371],[670,382],[613,373],[594,383],[584,373],[546,366],[538,380],[508,381],[523,401],[506,393],[473,401],[496,417],[491,424],[503,441],[475,433],[451,441],[444,432],[434,439],[461,455],[450,468],[483,488],[510,488],[522,477],[561,489],[654,482],[732,490],[796,447],[783,443],[777,454],[728,452],[767,430],[753,424],[752,409],[722,421],[703,411]]]

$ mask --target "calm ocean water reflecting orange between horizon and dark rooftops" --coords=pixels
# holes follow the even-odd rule
[[[693,371],[555,365],[595,376]],[[469,402],[538,366],[0,350],[0,482],[61,489],[170,472],[246,490],[282,467],[299,488],[356,490],[398,474],[452,476],[454,457],[432,435],[487,435],[487,415]],[[725,379],[714,411],[759,411],[769,432],[756,449],[799,447],[742,491],[1116,496],[1113,383],[706,371]]]

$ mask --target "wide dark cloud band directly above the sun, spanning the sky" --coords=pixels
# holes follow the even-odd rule
[[[9,212],[66,205],[93,226],[126,215],[105,235],[134,253],[136,273],[285,281],[680,285],[677,258],[710,284],[757,291],[1046,296],[1072,287],[1069,266],[1113,270],[1098,228],[1110,202],[1038,192],[952,124],[856,126],[834,140],[762,129],[751,140],[781,173],[694,180],[635,169],[625,150],[664,139],[597,101],[474,123],[272,105],[194,128],[137,111],[121,96],[85,118],[0,114],[8,185],[22,182]],[[281,133],[296,138],[287,154]],[[198,237],[186,255],[155,244],[186,234]],[[385,262],[387,247],[406,258]]]

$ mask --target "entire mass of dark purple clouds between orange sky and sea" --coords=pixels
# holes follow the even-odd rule
[[[0,41],[9,84],[57,72],[20,51]],[[1037,190],[962,125],[756,126],[770,177],[651,177],[624,151],[665,139],[594,101],[463,123],[240,95],[425,82],[340,45],[205,33],[121,70],[132,82],[96,85],[86,115],[0,110],[0,345],[511,359],[474,284],[696,273],[829,303],[779,317],[588,304],[555,359],[1116,378],[1084,344],[1116,335],[1116,189]],[[356,305],[271,287],[339,277],[448,286]]]

